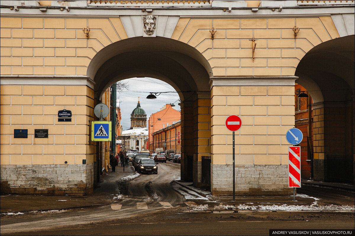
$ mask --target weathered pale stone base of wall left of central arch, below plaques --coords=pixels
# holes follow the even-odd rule
[[[1,193],[88,195],[93,192],[93,164],[1,165]]]

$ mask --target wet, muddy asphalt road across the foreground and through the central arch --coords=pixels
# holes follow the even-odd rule
[[[354,212],[191,212],[188,200],[170,186],[179,177],[180,164],[159,163],[158,175],[117,182],[115,193],[124,198],[111,205],[2,216],[1,235],[268,235],[268,229],[354,229]],[[326,205],[354,205],[354,192],[302,185],[298,193],[322,198]],[[195,202],[219,204],[212,200]]]

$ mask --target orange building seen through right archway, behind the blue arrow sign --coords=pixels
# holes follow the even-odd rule
[[[299,84],[295,85],[296,93],[305,91],[308,97],[298,97],[295,95],[295,127],[303,133],[301,146],[301,178],[310,178],[312,176],[312,149],[313,149],[313,115],[312,115],[312,98],[304,87]],[[308,108],[310,107],[310,114]],[[311,120],[308,122],[308,116]],[[308,125],[310,125],[310,135],[308,135]]]

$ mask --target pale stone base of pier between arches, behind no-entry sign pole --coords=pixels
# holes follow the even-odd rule
[[[211,193],[213,196],[233,195],[232,165],[211,165]],[[287,165],[235,165],[235,195],[287,196]]]

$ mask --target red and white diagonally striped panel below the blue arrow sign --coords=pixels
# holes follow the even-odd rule
[[[289,147],[289,188],[301,188],[301,147]]]

